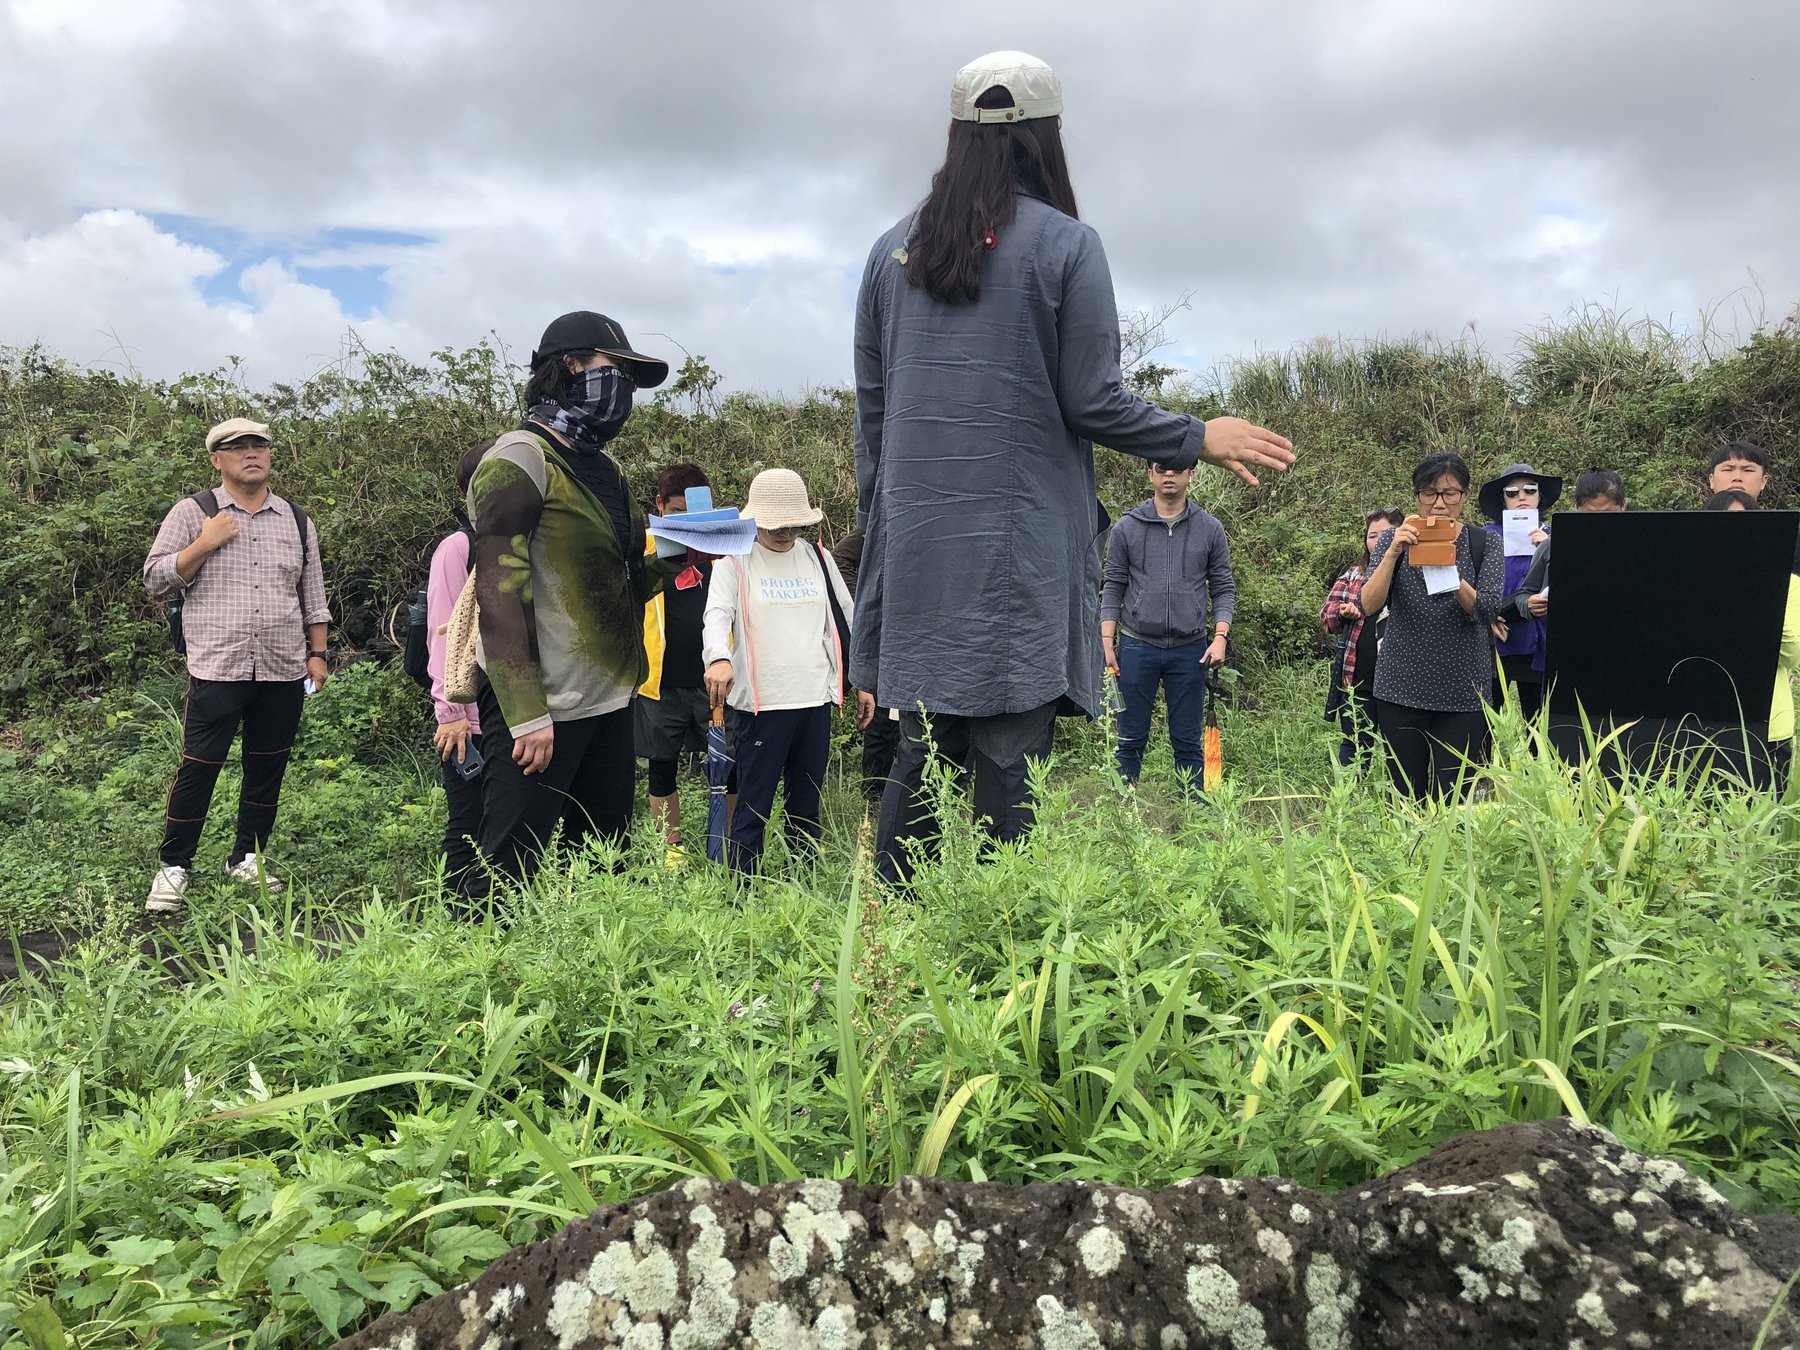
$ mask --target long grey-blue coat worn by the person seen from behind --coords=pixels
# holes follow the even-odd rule
[[[868,531],[850,679],[882,707],[1100,713],[1093,443],[1175,464],[1204,425],[1120,376],[1100,236],[1035,198],[941,304],[875,241],[857,297],[857,520]]]

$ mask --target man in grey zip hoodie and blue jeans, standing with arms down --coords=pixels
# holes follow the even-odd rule
[[[1168,700],[1168,743],[1175,772],[1197,796],[1206,725],[1206,677],[1226,661],[1226,634],[1237,583],[1231,547],[1219,520],[1188,500],[1192,468],[1152,463],[1156,495],[1112,527],[1100,590],[1100,644],[1118,675],[1120,776],[1138,781],[1150,742],[1156,689]],[[1206,608],[1211,599],[1211,637]]]

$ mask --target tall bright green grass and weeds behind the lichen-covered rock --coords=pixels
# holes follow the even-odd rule
[[[103,931],[0,1021],[0,1330],[319,1343],[693,1174],[1337,1188],[1573,1114],[1800,1206],[1793,801],[1577,776],[1508,711],[1481,799],[1413,806],[1307,718],[1228,709],[1193,806],[1066,727],[1042,828],[952,821],[911,893],[839,781],[826,860],[751,887],[644,846],[504,931],[209,896],[178,979]]]

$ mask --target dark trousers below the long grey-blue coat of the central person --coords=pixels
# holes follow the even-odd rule
[[[913,842],[934,850],[938,824],[925,790],[925,718],[918,711],[900,713],[900,749],[893,776],[882,796],[877,830],[875,866],[889,882],[913,877]],[[1057,731],[1057,706],[1044,704],[1030,713],[995,716],[931,715],[931,740],[938,754],[954,765],[967,765],[976,779],[976,821],[990,839],[1019,839],[1037,821],[1031,801],[1030,760],[1049,754]]]

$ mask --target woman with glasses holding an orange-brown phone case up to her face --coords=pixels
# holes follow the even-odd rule
[[[1426,455],[1413,468],[1420,517],[1454,520],[1469,500],[1462,455]],[[1411,517],[1382,531],[1357,599],[1363,614],[1388,608],[1375,668],[1375,725],[1393,781],[1411,797],[1449,796],[1487,742],[1483,706],[1494,682],[1494,639],[1505,558],[1480,529],[1456,526],[1456,565],[1411,562]]]

